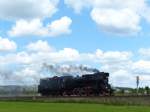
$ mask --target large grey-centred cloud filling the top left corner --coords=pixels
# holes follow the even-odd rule
[[[0,0],[1,19],[34,19],[51,17],[59,0]]]

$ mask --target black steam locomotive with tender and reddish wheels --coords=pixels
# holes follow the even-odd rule
[[[82,76],[61,76],[40,80],[38,92],[42,96],[106,96],[112,89],[109,73],[96,72]]]

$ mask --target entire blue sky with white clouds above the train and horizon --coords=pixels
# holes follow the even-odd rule
[[[97,68],[112,86],[150,85],[149,0],[0,0],[0,85]]]

